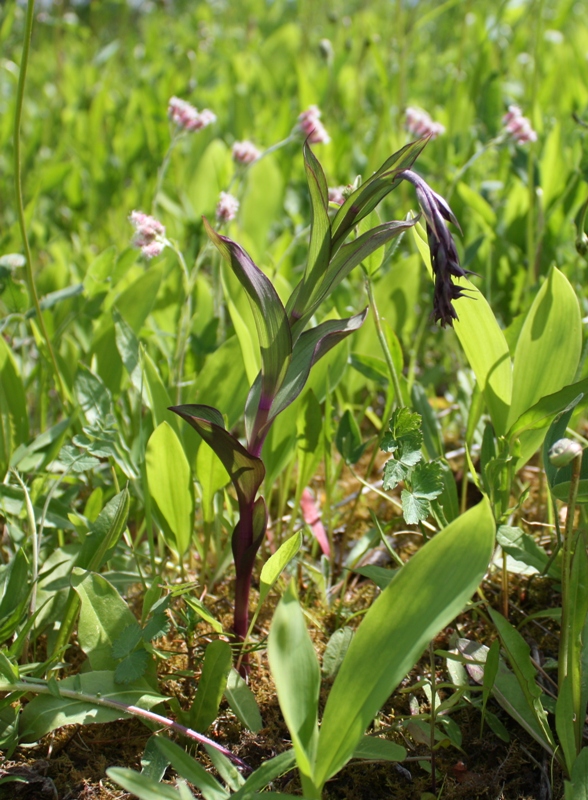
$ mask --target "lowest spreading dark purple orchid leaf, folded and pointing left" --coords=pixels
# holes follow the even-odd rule
[[[229,473],[240,502],[252,503],[265,475],[259,458],[252,456],[225,428],[216,408],[203,405],[171,406],[212,447]]]

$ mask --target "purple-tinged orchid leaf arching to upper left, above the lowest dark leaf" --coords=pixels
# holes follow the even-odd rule
[[[236,242],[204,227],[247,292],[261,348],[262,397],[271,400],[279,389],[292,355],[292,337],[286,311],[271,281]]]

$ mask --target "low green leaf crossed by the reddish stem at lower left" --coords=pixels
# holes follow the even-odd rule
[[[55,697],[41,694],[34,697],[21,714],[21,741],[36,742],[46,733],[62,725],[89,725],[95,722],[113,722],[129,716],[124,708],[108,708],[92,702],[92,697],[112,700],[125,706],[152,708],[165,698],[153,692],[145,681],[121,688],[114,682],[114,673],[103,670],[80,673],[57,681],[60,691],[68,690],[84,696]]]

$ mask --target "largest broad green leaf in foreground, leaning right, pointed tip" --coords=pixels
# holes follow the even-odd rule
[[[372,605],[327,701],[314,774],[317,786],[347,763],[426,643],[463,609],[490,561],[494,531],[484,500],[427,542]]]

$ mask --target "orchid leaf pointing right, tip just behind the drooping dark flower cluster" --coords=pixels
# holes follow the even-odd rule
[[[294,322],[292,336],[294,341],[314,314],[323,300],[349,275],[352,269],[367,258],[374,250],[382,247],[390,239],[411,228],[418,217],[411,220],[385,222],[376,228],[358,236],[353,242],[344,245],[331,260],[322,279],[316,284],[309,284],[297,293],[294,307],[290,310],[290,319]]]

